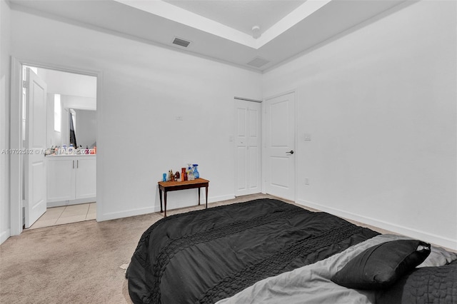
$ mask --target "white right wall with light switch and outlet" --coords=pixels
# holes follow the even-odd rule
[[[457,249],[456,2],[389,13],[268,71],[263,96],[297,93],[298,203]]]

